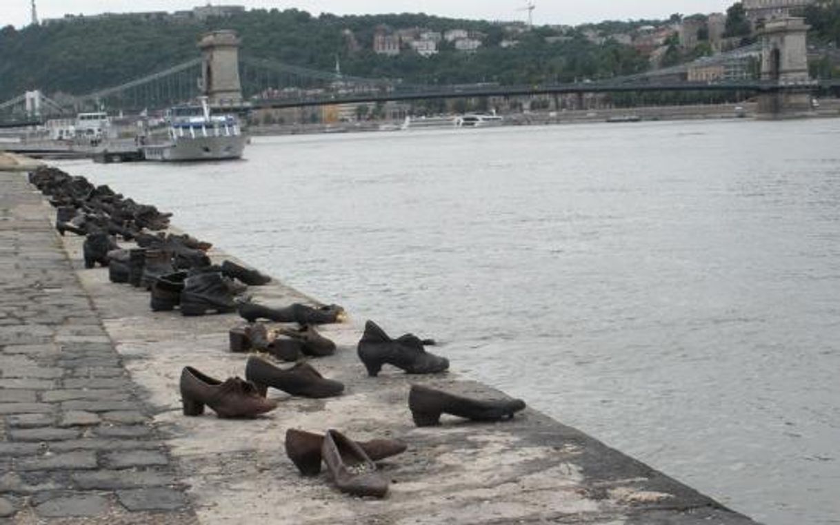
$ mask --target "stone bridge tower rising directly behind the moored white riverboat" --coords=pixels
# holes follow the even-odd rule
[[[202,49],[202,94],[211,106],[237,106],[242,103],[239,83],[239,44],[235,31],[222,29],[204,34]]]

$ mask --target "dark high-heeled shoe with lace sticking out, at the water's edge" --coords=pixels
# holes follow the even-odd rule
[[[365,323],[365,334],[357,351],[371,377],[376,377],[382,365],[386,364],[402,368],[409,374],[433,374],[449,368],[448,359],[428,353],[423,348],[423,340],[415,335],[406,334],[391,339],[385,330],[370,320]]]

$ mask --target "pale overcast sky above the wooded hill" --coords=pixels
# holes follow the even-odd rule
[[[428,13],[459,18],[524,20],[528,0],[228,0],[248,8],[298,8],[310,13]],[[606,19],[667,18],[671,13],[722,12],[735,0],[534,0],[534,23],[600,22]],[[39,18],[65,13],[175,11],[202,5],[202,0],[36,0]],[[30,0],[0,0],[0,26],[29,23]]]

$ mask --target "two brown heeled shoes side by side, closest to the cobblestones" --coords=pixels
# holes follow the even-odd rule
[[[283,370],[251,357],[244,380],[229,377],[225,381],[185,366],[180,382],[184,415],[202,415],[207,406],[220,418],[254,418],[277,408],[276,401],[266,398],[269,387],[305,398],[330,398],[344,392],[344,384],[323,377],[308,363]]]

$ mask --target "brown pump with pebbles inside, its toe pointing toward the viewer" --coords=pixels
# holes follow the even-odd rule
[[[388,480],[376,470],[365,450],[338,430],[327,431],[321,457],[339,491],[374,497],[385,497],[388,492]]]

